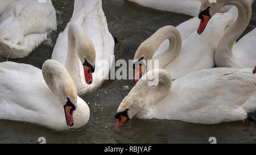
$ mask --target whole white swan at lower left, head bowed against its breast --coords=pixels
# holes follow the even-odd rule
[[[63,65],[47,60],[42,70],[16,62],[0,63],[0,119],[30,122],[56,131],[84,126],[88,105],[77,96]]]

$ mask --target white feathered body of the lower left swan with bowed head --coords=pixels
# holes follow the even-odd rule
[[[52,60],[48,60],[48,64],[63,75],[56,77],[56,82],[64,80],[69,83],[66,89],[71,89],[72,85],[75,87],[64,66],[52,63]],[[42,70],[34,66],[15,62],[0,63],[0,87],[0,119],[35,123],[56,131],[80,128],[89,120],[88,105],[77,94],[73,94],[77,97],[77,108],[73,114],[75,123],[73,127],[68,127],[63,108],[65,103],[61,103],[61,99],[49,89]]]

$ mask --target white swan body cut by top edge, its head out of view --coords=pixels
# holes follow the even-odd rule
[[[162,11],[171,11],[191,16],[197,16],[203,0],[128,0],[139,5],[151,7]],[[228,11],[230,7],[225,7],[221,11]]]

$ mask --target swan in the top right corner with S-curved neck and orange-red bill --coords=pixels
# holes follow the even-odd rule
[[[215,12],[226,5],[236,6],[238,17],[218,44],[214,57],[216,65],[229,68],[253,68],[256,60],[256,45],[254,43],[256,40],[256,28],[236,43],[251,19],[251,4],[249,0],[217,0],[217,3],[203,1],[199,14],[201,22],[198,33],[203,33],[204,28],[210,24],[208,22]]]

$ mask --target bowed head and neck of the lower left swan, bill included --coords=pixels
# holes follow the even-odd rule
[[[67,125],[74,125],[73,111],[77,107],[77,90],[67,69],[56,60],[47,60],[42,66],[43,78],[49,89],[64,107]]]

